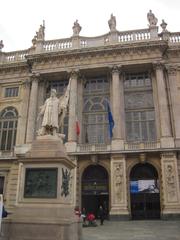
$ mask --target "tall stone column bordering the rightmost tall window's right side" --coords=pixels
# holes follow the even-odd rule
[[[156,71],[158,107],[160,117],[160,141],[161,147],[174,147],[172,138],[172,128],[170,121],[170,112],[168,107],[168,95],[166,91],[166,82],[164,77],[164,66],[161,63],[154,64]]]

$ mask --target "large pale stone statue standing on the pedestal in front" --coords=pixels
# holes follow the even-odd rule
[[[67,107],[70,96],[71,79],[64,95],[57,98],[56,89],[51,89],[51,95],[46,99],[43,106],[40,107],[38,119],[43,117],[41,128],[38,135],[53,135],[58,134],[59,128],[62,126],[67,113]]]

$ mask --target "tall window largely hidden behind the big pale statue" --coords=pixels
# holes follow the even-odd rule
[[[51,89],[56,89],[57,97],[58,98],[61,97],[65,93],[68,82],[69,82],[68,80],[49,81],[47,92],[46,92],[46,98],[50,97]],[[64,141],[67,142],[67,138],[68,138],[68,112],[67,112],[66,117],[64,118],[63,126],[59,129],[59,132],[65,134]]]

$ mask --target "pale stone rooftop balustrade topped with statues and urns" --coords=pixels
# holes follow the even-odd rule
[[[39,30],[32,39],[32,47],[26,50],[3,52],[3,41],[0,41],[0,64],[26,61],[27,55],[43,54],[47,52],[71,51],[73,49],[85,49],[93,47],[111,46],[114,44],[123,45],[133,42],[150,42],[166,40],[169,46],[180,44],[180,32],[169,32],[167,23],[162,20],[162,32],[158,33],[157,18],[150,10],[147,14],[149,27],[130,31],[118,31],[116,29],[116,17],[111,14],[108,21],[110,31],[107,34],[97,37],[84,37],[79,33],[82,29],[78,21],[74,22],[73,36],[64,39],[45,40],[45,23],[40,25]]]

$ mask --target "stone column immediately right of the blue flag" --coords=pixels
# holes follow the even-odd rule
[[[124,149],[124,91],[123,79],[119,67],[112,69],[112,113],[114,118],[113,150]]]

